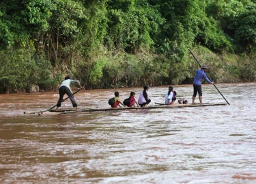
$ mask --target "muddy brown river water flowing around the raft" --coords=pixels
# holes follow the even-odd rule
[[[230,106],[39,116],[23,112],[54,106],[57,92],[0,95],[0,183],[256,183],[256,83],[216,87]],[[81,107],[106,108],[116,90],[123,100],[142,91],[75,97]],[[167,90],[150,88],[150,106],[164,103]],[[191,103],[192,85],[174,90]],[[225,100],[203,85],[203,102]]]

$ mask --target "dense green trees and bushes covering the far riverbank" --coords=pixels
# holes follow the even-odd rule
[[[18,0],[0,3],[0,93],[68,75],[87,88],[256,80],[255,0]]]

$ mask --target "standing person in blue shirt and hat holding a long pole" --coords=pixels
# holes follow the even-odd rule
[[[192,104],[195,104],[195,97],[197,96],[197,93],[199,94],[200,104],[203,104],[203,93],[202,93],[202,87],[201,87],[201,83],[202,83],[203,78],[208,83],[214,84],[214,82],[209,80],[209,78],[205,74],[206,70],[208,70],[207,65],[202,65],[201,70],[197,70],[196,73],[195,73],[195,78],[194,78],[194,82],[193,82],[194,93],[193,93],[193,97],[192,97]]]

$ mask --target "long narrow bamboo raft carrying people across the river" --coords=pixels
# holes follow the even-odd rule
[[[102,111],[117,111],[117,110],[150,110],[157,108],[189,108],[189,107],[205,107],[205,106],[225,106],[227,104],[175,104],[175,105],[166,105],[161,103],[155,103],[155,106],[147,106],[147,107],[124,107],[124,108],[82,108],[80,110],[73,109],[59,109],[59,110],[40,110],[35,112],[24,112],[24,114],[43,114],[43,112],[55,112],[55,114],[70,114],[70,113],[79,113],[79,112],[102,112]]]

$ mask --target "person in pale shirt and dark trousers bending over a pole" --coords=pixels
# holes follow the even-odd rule
[[[59,110],[59,107],[61,106],[61,102],[63,102],[63,96],[65,94],[67,94],[68,97],[70,97],[73,107],[75,107],[76,110],[78,110],[76,100],[74,99],[74,95],[70,89],[70,85],[72,84],[79,85],[79,87],[82,88],[79,80],[71,80],[69,76],[66,76],[65,80],[63,80],[63,82],[59,86],[59,100],[57,102],[56,110]]]

